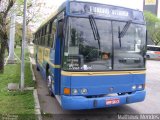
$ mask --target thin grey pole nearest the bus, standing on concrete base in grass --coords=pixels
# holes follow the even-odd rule
[[[24,9],[23,9],[23,31],[22,31],[22,48],[21,48],[21,91],[24,90],[24,44],[26,40],[26,9],[27,9],[27,0],[24,0]]]

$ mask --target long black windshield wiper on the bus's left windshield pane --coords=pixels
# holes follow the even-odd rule
[[[96,22],[95,22],[95,19],[94,19],[93,15],[89,15],[89,22],[91,24],[94,39],[98,41],[98,47],[99,47],[99,50],[100,50],[101,49],[100,35],[99,35],[98,28],[97,28],[97,25],[96,25]]]

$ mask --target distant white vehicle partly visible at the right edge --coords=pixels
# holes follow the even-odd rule
[[[147,59],[160,60],[160,46],[147,45]]]

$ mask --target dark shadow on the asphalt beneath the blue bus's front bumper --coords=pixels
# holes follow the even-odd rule
[[[57,102],[60,111],[56,114],[43,115],[44,120],[117,120],[125,115],[137,115],[138,111],[128,105],[91,110],[63,110]]]

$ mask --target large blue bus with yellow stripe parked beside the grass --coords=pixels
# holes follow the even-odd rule
[[[65,110],[145,99],[146,23],[139,10],[66,1],[35,32],[37,70]]]

